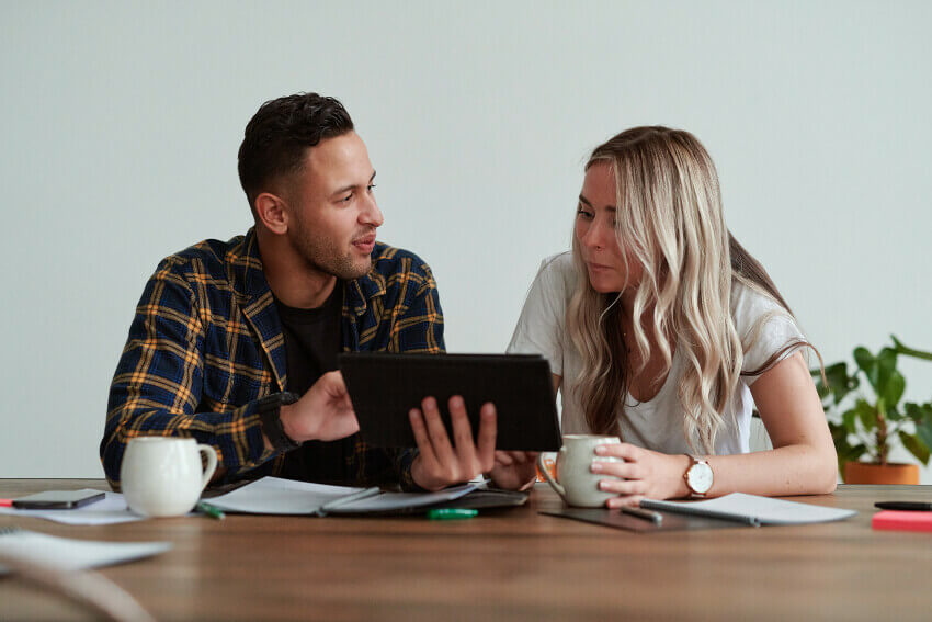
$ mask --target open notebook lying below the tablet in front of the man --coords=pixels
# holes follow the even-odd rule
[[[501,491],[490,500],[490,491],[480,486],[469,483],[437,493],[387,493],[377,487],[329,486],[269,476],[213,497],[208,502],[226,512],[325,517],[409,512],[459,502],[463,507],[505,507],[520,505],[527,498],[526,494]],[[473,494],[479,505],[470,505]]]

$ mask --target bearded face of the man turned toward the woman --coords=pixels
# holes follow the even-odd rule
[[[308,268],[344,280],[368,273],[375,229],[384,220],[365,144],[355,132],[307,150],[286,196],[288,240]]]

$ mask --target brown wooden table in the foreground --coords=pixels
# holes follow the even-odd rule
[[[0,496],[93,487],[0,479]],[[871,529],[873,504],[932,500],[932,486],[840,486],[800,500],[848,521],[636,534],[527,506],[466,521],[228,516],[69,527],[0,516],[54,535],[174,543],[102,573],[159,620],[930,620],[932,534]],[[88,619],[15,578],[0,620]]]

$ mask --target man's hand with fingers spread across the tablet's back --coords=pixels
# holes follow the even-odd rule
[[[463,398],[450,398],[450,420],[453,425],[455,446],[440,418],[436,399],[425,397],[421,410],[412,408],[409,418],[420,453],[411,463],[414,484],[427,490],[440,490],[453,484],[462,484],[495,466],[496,454],[496,407],[482,405],[479,411],[479,441],[473,442],[473,429],[466,415]]]

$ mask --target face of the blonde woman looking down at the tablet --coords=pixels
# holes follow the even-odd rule
[[[609,163],[589,167],[579,193],[576,213],[576,240],[589,272],[589,283],[600,293],[633,290],[643,272],[637,259],[628,253],[627,270],[615,234],[615,174]]]

